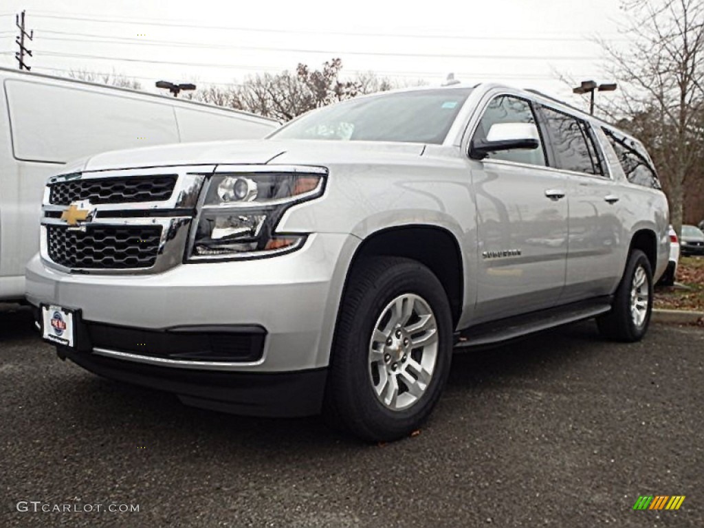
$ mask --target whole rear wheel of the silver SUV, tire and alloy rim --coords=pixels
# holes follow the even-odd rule
[[[646,254],[635,249],[616,289],[611,310],[596,319],[599,331],[614,341],[640,341],[653,311],[653,272]]]

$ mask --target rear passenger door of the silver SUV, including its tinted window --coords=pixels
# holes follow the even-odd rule
[[[622,273],[619,187],[608,172],[596,131],[586,120],[539,106],[570,207],[567,275],[560,303],[611,294]]]

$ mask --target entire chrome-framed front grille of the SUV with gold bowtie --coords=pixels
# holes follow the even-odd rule
[[[96,275],[148,275],[174,268],[183,262],[194,210],[213,170],[215,165],[180,165],[51,177],[42,200],[42,260],[60,272]],[[163,189],[152,187],[145,194],[140,186],[154,181]],[[54,189],[64,184],[69,187],[62,189],[78,194],[61,198]],[[81,194],[86,192],[92,194]],[[64,215],[76,209],[87,212],[85,220]]]

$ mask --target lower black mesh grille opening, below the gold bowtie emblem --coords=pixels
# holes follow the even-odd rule
[[[151,268],[160,239],[161,226],[91,225],[84,231],[46,226],[49,257],[66,268]]]

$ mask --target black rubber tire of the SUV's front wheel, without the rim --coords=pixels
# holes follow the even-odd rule
[[[396,410],[386,408],[377,398],[370,376],[369,350],[372,331],[384,308],[405,294],[420,296],[432,310],[438,341],[434,370],[425,392],[409,408]],[[327,378],[323,413],[329,425],[366,441],[408,436],[428,417],[444,389],[452,339],[448,298],[425,265],[397,257],[367,258],[356,263],[341,302]]]

